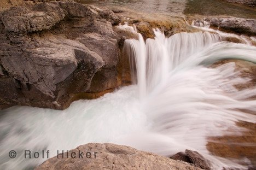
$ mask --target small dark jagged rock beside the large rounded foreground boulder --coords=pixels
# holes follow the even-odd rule
[[[186,149],[185,153],[180,152],[171,156],[170,158],[173,160],[180,160],[191,163],[193,166],[202,169],[211,169],[210,162],[206,160],[201,154],[197,153],[197,151]]]

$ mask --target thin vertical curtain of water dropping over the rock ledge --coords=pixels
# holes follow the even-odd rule
[[[135,27],[127,24],[119,28],[137,33]],[[218,34],[209,32],[182,32],[166,38],[159,29],[153,31],[155,39],[148,38],[145,43],[137,33],[138,40],[127,39],[124,44],[124,53],[130,58],[132,79],[138,84],[141,97],[163,83],[168,73],[189,56],[220,41]]]

